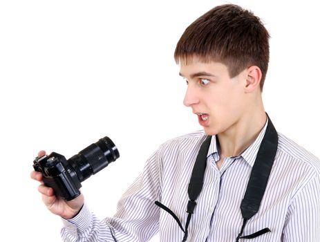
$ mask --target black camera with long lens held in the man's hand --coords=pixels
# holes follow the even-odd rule
[[[33,168],[42,173],[44,185],[52,187],[56,196],[70,201],[79,196],[84,180],[119,157],[115,144],[104,137],[68,160],[55,152],[37,157]]]

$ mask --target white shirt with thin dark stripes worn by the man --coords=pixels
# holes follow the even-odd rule
[[[216,136],[207,154],[203,190],[189,225],[187,241],[235,241],[243,218],[240,205],[267,124],[240,156],[225,158],[218,169]],[[181,242],[184,233],[173,217],[155,205],[169,207],[187,220],[187,187],[204,131],[165,142],[147,160],[144,171],[125,192],[113,218],[99,221],[86,205],[64,221],[64,241]],[[243,236],[269,227],[250,242],[320,241],[320,161],[279,133],[279,145],[259,211],[247,222]],[[239,241],[247,241],[240,239]]]

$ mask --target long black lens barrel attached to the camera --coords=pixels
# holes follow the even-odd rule
[[[120,153],[112,140],[108,137],[101,138],[68,159],[75,171],[75,173],[71,172],[70,176],[77,175],[79,181],[82,182],[119,157]]]

